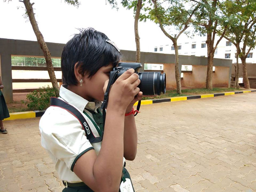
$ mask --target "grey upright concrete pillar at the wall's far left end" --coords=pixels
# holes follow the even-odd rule
[[[6,103],[13,102],[12,96],[12,58],[11,54],[0,55],[0,75],[4,85],[3,94]]]

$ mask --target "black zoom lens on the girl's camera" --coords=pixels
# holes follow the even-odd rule
[[[161,72],[141,72],[139,88],[143,95],[161,95],[166,92],[165,73]]]

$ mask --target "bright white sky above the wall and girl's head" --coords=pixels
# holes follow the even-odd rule
[[[118,1],[118,0],[117,0]],[[66,43],[76,28],[93,27],[105,33],[120,49],[136,50],[133,10],[119,3],[112,9],[105,0],[80,0],[76,8],[61,0],[31,0],[39,30],[46,42]],[[20,7],[17,9],[17,7]],[[36,41],[30,22],[23,18],[24,4],[18,0],[0,0],[0,38]],[[154,46],[172,44],[154,22],[139,22],[141,51],[153,52]]]

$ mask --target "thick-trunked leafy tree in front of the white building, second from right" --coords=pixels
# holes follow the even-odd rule
[[[195,32],[201,36],[207,36],[207,76],[206,76],[206,89],[212,90],[212,68],[214,52],[220,43],[220,40],[224,37],[229,18],[224,14],[223,4],[225,1],[219,0],[190,0],[198,4],[199,9],[195,13],[195,20],[193,22]],[[228,1],[228,0],[226,0]],[[214,45],[215,37],[220,34],[220,37]]]

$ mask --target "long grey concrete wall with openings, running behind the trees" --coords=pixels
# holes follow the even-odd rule
[[[46,43],[52,57],[61,57],[61,52],[64,47],[64,44],[58,43]],[[123,54],[123,61],[135,61],[135,51],[127,51],[121,50]],[[11,63],[11,56],[12,55],[20,55],[20,56],[44,56],[40,46],[36,41],[24,41],[24,40],[15,40],[15,39],[3,39],[0,38],[0,74],[2,77],[2,81],[4,84],[3,93],[6,99],[6,102],[12,102],[12,63]],[[152,52],[141,52],[141,64],[143,67],[140,69],[140,72],[144,71],[144,64],[145,63],[156,63],[156,64],[164,64],[164,72],[166,73],[167,77],[167,88],[175,88],[175,76],[174,74],[174,65],[175,62],[175,55],[173,54],[162,54],[162,53],[152,53]],[[171,66],[169,66],[171,65]],[[205,68],[207,66],[207,58],[206,57],[195,57],[195,56],[186,56],[180,55],[179,56],[179,71],[181,73],[181,65],[193,65],[193,66],[204,66],[201,68]],[[229,75],[228,78],[225,79],[225,84],[228,81],[228,87],[230,86],[230,77],[231,77],[231,65],[232,61],[227,59],[214,59],[213,66],[222,66],[228,67]],[[200,67],[199,67],[200,68]],[[198,69],[199,69],[198,68]],[[196,69],[196,68],[195,68]],[[200,69],[201,70],[201,69]],[[190,84],[193,84],[192,80],[196,80],[196,82],[205,81],[205,73],[204,70],[201,70],[202,74],[197,74],[198,72],[195,71],[197,75],[193,78],[190,77]],[[187,74],[183,77],[183,80],[186,78]],[[219,76],[217,76],[219,77]],[[187,77],[188,78],[188,77]],[[202,80],[198,80],[198,78],[203,78]],[[175,82],[175,84],[173,83]],[[188,84],[189,80],[185,80]],[[219,82],[219,81],[218,81]],[[218,83],[219,84],[219,83]]]

